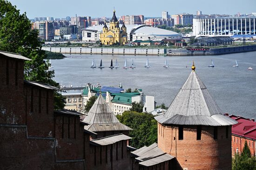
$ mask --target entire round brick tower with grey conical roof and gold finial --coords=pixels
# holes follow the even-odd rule
[[[158,147],[183,170],[231,170],[231,126],[195,73],[158,121]]]

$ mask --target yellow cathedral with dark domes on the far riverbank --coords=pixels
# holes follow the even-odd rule
[[[105,22],[102,33],[100,34],[100,40],[102,45],[123,45],[127,43],[126,26],[123,24],[120,30],[119,21],[115,16],[115,10],[113,11],[109,29]]]

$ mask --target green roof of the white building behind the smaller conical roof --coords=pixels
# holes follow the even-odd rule
[[[124,104],[132,104],[132,97],[141,95],[140,93],[113,93],[114,96],[112,102],[116,103],[124,103]]]

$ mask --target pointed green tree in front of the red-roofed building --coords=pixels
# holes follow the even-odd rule
[[[251,156],[251,152],[245,141],[241,155],[236,154],[232,158],[232,170],[256,170],[256,159]]]

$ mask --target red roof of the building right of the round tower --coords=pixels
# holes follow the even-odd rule
[[[227,113],[225,115],[238,122],[232,126],[232,134],[256,140],[256,122],[254,119],[250,120],[242,116],[229,115]]]

